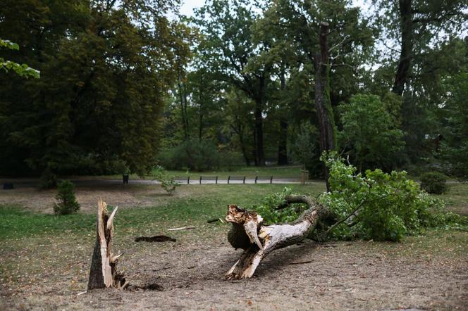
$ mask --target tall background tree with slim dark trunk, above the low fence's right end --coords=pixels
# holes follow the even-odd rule
[[[216,68],[219,79],[244,91],[255,103],[255,164],[264,165],[264,109],[271,67],[256,63],[265,44],[254,44],[252,24],[258,18],[250,1],[211,0],[200,8],[195,23],[204,34],[204,49],[211,56],[209,66]],[[249,66],[249,64],[251,64]]]

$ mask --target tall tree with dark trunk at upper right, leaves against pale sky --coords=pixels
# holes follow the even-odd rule
[[[450,36],[467,29],[468,4],[464,0],[371,2],[376,4],[376,17],[383,25],[381,41],[389,47],[386,66],[393,68],[391,89],[403,96],[404,158],[420,162],[428,156],[424,137],[436,127],[430,118],[431,103],[426,100],[426,94],[433,89],[433,74],[425,68],[430,65],[431,70],[436,70],[446,65],[441,61],[429,64],[426,59]]]

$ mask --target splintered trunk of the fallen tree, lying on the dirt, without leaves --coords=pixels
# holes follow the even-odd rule
[[[233,229],[228,233],[228,241],[234,248],[243,248],[245,251],[226,273],[226,279],[252,277],[266,255],[302,241],[319,220],[328,214],[323,205],[309,196],[288,196],[286,200],[288,204],[306,203],[309,206],[293,224],[263,226],[260,215],[229,205],[226,221],[233,224]]]

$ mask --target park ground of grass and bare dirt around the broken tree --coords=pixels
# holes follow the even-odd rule
[[[151,200],[151,193],[140,192],[151,187],[135,185],[131,189],[135,197]],[[316,246],[307,242],[273,253],[266,260],[266,266],[259,269],[258,277],[250,281],[224,281],[223,273],[240,253],[226,241],[229,225],[208,224],[207,220],[223,218],[229,203],[252,208],[261,203],[265,195],[281,191],[283,187],[275,184],[181,186],[176,191],[180,196],[164,196],[161,200],[160,194],[155,194],[157,200],[153,206],[126,208],[119,205],[121,208],[114,222],[114,249],[115,253],[125,252],[119,267],[125,270],[132,284],[156,282],[164,286],[164,291],[111,292],[111,298],[99,291],[76,296],[85,291],[87,284],[95,239],[94,212],[86,210],[58,217],[27,210],[18,204],[1,204],[0,309],[121,306],[114,298],[125,300],[125,306],[135,310],[152,308],[155,302],[158,307],[171,309],[175,307],[171,301],[186,301],[181,304],[188,309],[209,310],[211,306],[229,309],[233,305],[223,303],[237,303],[237,300],[233,301],[230,292],[224,293],[222,288],[247,295],[253,307],[259,310],[270,310],[276,303],[293,309],[307,308],[300,305],[302,300],[297,297],[305,297],[310,303],[321,302],[322,310],[340,308],[343,304],[351,309],[367,310],[455,309],[468,301],[468,296],[457,287],[466,285],[460,285],[457,280],[468,267],[468,233],[451,229],[430,229],[419,236],[407,236],[401,243],[340,241]],[[313,196],[324,191],[324,184],[291,187]],[[464,210],[465,189],[466,184],[462,184],[455,187],[451,196],[449,192],[441,197],[452,198],[450,208]],[[99,191],[99,194],[106,198],[106,193]],[[196,228],[167,231],[187,225]],[[136,236],[156,234],[166,234],[177,242],[134,242]],[[306,263],[288,264],[297,261]],[[280,269],[281,277],[274,273],[276,269]],[[304,274],[303,269],[314,273]],[[389,277],[392,274],[395,275]],[[322,285],[317,288],[314,284]],[[426,284],[431,284],[433,289],[426,288]],[[245,286],[250,288],[248,294],[244,293]],[[264,296],[264,286],[275,289]],[[372,288],[370,292],[369,287]],[[416,294],[414,288],[419,288],[424,295]],[[446,296],[438,296],[440,292]],[[190,303],[197,301],[195,305],[184,300],[192,296]],[[260,297],[268,298],[266,305],[261,303]],[[362,303],[364,300],[367,303]],[[212,305],[214,301],[218,303]],[[250,306],[247,302],[233,308]]]

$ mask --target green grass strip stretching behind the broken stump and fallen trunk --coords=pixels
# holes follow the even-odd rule
[[[269,193],[281,191],[283,185],[200,185],[190,186],[195,195],[167,197],[166,203],[149,208],[121,208],[116,227],[121,234],[153,227],[182,227],[202,225],[214,217],[224,218],[228,204],[250,208],[260,203]],[[318,195],[324,191],[321,184],[293,185],[294,191]],[[112,208],[109,207],[109,210]],[[49,215],[24,210],[19,205],[0,205],[0,241],[38,234],[55,235],[76,232],[94,234],[96,215]]]

